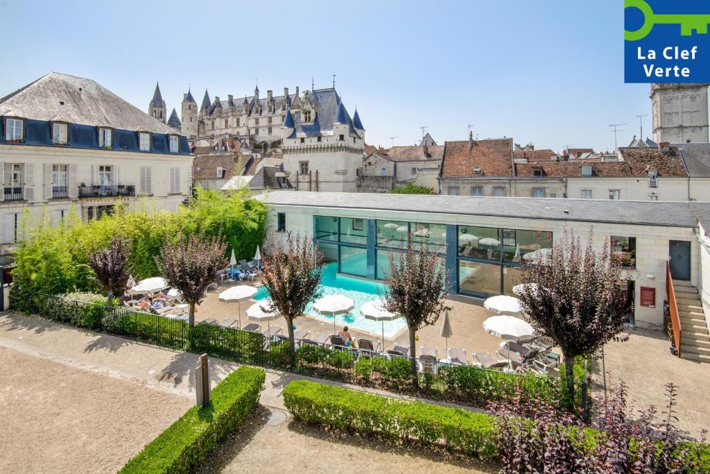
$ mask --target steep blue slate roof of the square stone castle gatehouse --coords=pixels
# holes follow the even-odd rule
[[[347,125],[349,134],[360,136],[355,129],[350,114],[345,109],[345,105],[333,88],[315,90],[311,93],[309,100],[312,104],[311,113],[314,114],[311,116],[312,122],[301,123],[303,109],[295,113],[291,113],[289,110],[286,114],[283,128],[293,129],[293,131],[287,138],[295,139],[332,134],[334,124]],[[302,107],[308,106],[307,104],[302,104]]]

